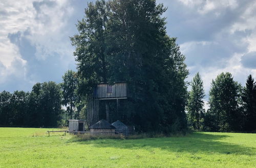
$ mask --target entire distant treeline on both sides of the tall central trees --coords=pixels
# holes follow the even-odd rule
[[[77,73],[69,70],[59,84],[49,81],[36,83],[31,92],[0,92],[0,126],[55,127],[67,126],[68,119],[86,119],[87,102],[77,92],[78,83]],[[207,110],[199,73],[189,85],[184,119],[189,128],[222,132],[256,130],[256,85],[251,75],[242,87],[230,73],[219,74],[211,82]],[[104,116],[104,108],[101,110]],[[119,113],[123,116],[126,111],[121,108]],[[113,108],[111,120],[121,120],[120,114]]]

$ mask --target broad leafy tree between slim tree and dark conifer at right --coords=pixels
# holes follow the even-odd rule
[[[231,73],[221,73],[211,82],[205,127],[211,131],[241,130],[239,99],[242,87]]]

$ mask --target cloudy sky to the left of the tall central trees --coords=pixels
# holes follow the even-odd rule
[[[75,23],[83,13],[81,4],[85,7],[86,3],[68,0],[1,3],[0,91],[30,91],[35,82],[60,82],[65,71],[75,69],[74,47],[69,36],[76,33]]]

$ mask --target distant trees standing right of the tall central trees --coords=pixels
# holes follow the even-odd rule
[[[187,101],[188,126],[203,131],[256,131],[256,85],[251,75],[246,86],[221,73],[211,82],[209,109],[204,109],[204,89],[199,73],[191,82]]]

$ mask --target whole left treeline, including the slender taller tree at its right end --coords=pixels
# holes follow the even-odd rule
[[[31,92],[0,92],[0,126],[67,126],[68,119],[85,119],[84,101],[77,94],[74,71],[62,76],[62,83],[36,83]]]

